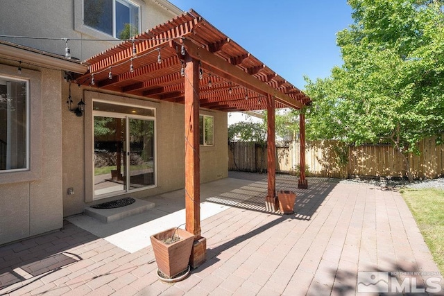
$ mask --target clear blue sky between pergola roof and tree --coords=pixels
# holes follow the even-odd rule
[[[336,32],[352,24],[346,0],[169,0],[213,26],[300,89],[303,76],[330,76],[341,65]]]

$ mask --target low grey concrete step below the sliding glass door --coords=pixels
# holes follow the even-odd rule
[[[102,223],[110,223],[113,221],[121,220],[126,217],[134,216],[144,213],[148,209],[153,209],[154,202],[147,202],[146,200],[139,200],[135,198],[133,204],[129,204],[125,207],[118,207],[115,209],[94,209],[92,207],[85,208],[85,215]]]

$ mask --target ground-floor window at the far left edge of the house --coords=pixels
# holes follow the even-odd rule
[[[0,76],[0,172],[28,162],[28,82]]]

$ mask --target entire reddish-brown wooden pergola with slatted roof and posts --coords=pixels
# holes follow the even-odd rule
[[[84,62],[76,83],[185,104],[186,229],[200,236],[199,109],[267,110],[268,196],[275,211],[275,109],[302,110],[310,98],[190,10]],[[300,112],[299,188],[305,177],[305,117]],[[188,196],[189,195],[189,196]],[[201,247],[201,246],[200,246]],[[194,254],[198,246],[194,246]],[[205,249],[205,247],[204,247]],[[205,252],[205,251],[204,251]],[[196,255],[199,256],[199,255]],[[191,255],[193,257],[193,255]]]

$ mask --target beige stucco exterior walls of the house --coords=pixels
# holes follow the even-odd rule
[[[60,0],[57,5],[54,2],[2,0],[0,34],[103,39],[101,33],[94,35],[79,25],[81,0]],[[134,2],[142,7],[143,29],[180,13],[165,0]],[[65,42],[60,40],[5,40],[40,51],[65,53]],[[74,57],[84,60],[114,44],[72,42],[69,47]],[[45,59],[52,61],[51,66],[33,63],[31,57],[28,62],[22,62],[19,74],[19,60],[13,55],[2,57],[0,51],[0,76],[28,80],[31,105],[30,170],[0,172],[0,245],[60,229],[64,217],[81,214],[94,203],[126,195],[145,198],[183,188],[185,184],[184,105],[72,84],[74,104],[81,98],[86,103],[84,116],[78,117],[67,108],[69,82],[64,80],[62,64],[57,68],[53,63],[58,64],[57,58]],[[95,99],[155,109],[157,182],[152,188],[93,199],[92,101]],[[209,182],[228,176],[227,114],[212,110],[200,110],[200,114],[214,116],[214,146],[200,147],[200,180]],[[68,195],[68,188],[73,188],[74,194]]]

